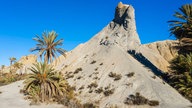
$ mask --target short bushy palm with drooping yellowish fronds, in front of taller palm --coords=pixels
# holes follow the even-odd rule
[[[67,82],[51,65],[37,63],[30,68],[33,74],[25,80],[24,90],[29,94],[36,94],[40,101],[58,98],[67,93]]]

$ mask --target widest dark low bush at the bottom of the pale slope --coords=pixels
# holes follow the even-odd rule
[[[140,93],[136,93],[135,95],[129,95],[129,97],[124,101],[124,103],[127,105],[159,105],[159,101],[148,100],[147,98],[141,96]]]

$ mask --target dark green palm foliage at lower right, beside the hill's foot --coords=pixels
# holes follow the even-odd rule
[[[168,83],[192,101],[192,53],[179,55],[172,60]]]

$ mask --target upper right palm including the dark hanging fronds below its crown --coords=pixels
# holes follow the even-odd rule
[[[179,8],[180,12],[175,12],[174,16],[178,20],[168,21],[170,23],[170,33],[180,41],[178,47],[181,53],[192,51],[192,4],[186,4]]]

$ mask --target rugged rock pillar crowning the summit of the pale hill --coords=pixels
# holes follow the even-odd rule
[[[107,29],[104,30],[109,37],[109,43],[117,44],[124,50],[135,50],[140,46],[134,12],[134,8],[131,5],[119,2],[115,9],[114,19],[110,22]]]

